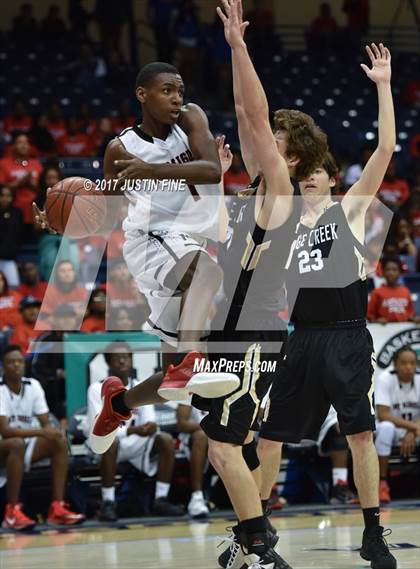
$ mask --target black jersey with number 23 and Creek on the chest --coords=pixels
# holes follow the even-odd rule
[[[353,235],[341,203],[315,227],[299,223],[287,261],[287,298],[295,324],[366,318],[364,247]]]

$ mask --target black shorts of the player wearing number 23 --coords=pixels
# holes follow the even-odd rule
[[[270,392],[260,436],[289,443],[317,440],[330,405],[342,434],[374,431],[375,361],[364,322],[298,327]]]

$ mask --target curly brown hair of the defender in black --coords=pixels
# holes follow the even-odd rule
[[[304,180],[323,163],[328,151],[327,135],[309,115],[301,111],[280,109],[274,113],[273,131],[287,134],[287,156],[297,156],[295,177]]]

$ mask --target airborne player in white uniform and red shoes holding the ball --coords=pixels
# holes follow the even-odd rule
[[[234,374],[193,377],[194,362],[203,358],[203,331],[222,279],[220,267],[205,250],[206,238],[218,238],[222,201],[215,140],[202,109],[183,106],[184,84],[172,65],[156,62],[141,69],[136,97],[141,124],[125,129],[105,152],[105,178],[119,179],[126,188],[118,184],[106,192],[113,198],[104,229],[112,227],[118,197],[125,194],[130,204],[123,225],[124,258],[150,305],[150,328],[162,340],[164,376],[155,374],[129,391],[118,378],[104,382],[104,406],[90,440],[98,453],[109,448],[121,421],[141,404],[184,400],[189,392],[221,396],[238,386]],[[130,184],[143,180],[139,187]],[[160,182],[148,191],[151,180]],[[168,180],[185,184],[180,191],[165,191]],[[34,207],[34,213],[48,228],[45,212]]]

